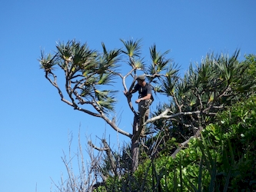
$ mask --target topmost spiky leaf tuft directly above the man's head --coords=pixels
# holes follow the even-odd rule
[[[141,55],[141,39],[135,41],[125,41],[120,39],[122,43],[125,45],[126,50],[122,51],[129,57],[139,57]]]

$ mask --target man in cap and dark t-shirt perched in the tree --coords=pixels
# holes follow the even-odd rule
[[[138,112],[140,118],[140,130],[141,137],[145,136],[145,127],[142,126],[145,121],[148,120],[149,116],[149,106],[154,101],[152,96],[152,87],[145,81],[145,74],[139,75],[137,78],[137,84],[135,84],[135,88],[131,90],[131,92],[125,92],[125,95],[133,94],[138,91],[138,99],[135,101],[138,104]]]

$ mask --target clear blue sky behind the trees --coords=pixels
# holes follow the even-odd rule
[[[60,180],[68,151],[68,133],[77,150],[81,127],[85,135],[111,138],[111,146],[128,141],[98,118],[74,111],[62,103],[46,81],[37,59],[40,50],[55,51],[56,41],[76,39],[100,49],[121,48],[122,39],[143,39],[148,48],[171,50],[169,57],[181,66],[200,61],[208,52],[256,54],[256,1],[2,1],[0,7],[0,191],[50,191],[52,177]],[[121,94],[120,94],[121,95]],[[136,97],[136,96],[135,96]],[[118,111],[120,126],[131,132],[132,114]],[[159,102],[159,101],[155,101]],[[123,106],[122,106],[123,104]],[[80,126],[81,124],[81,126]],[[109,136],[110,135],[110,136]]]

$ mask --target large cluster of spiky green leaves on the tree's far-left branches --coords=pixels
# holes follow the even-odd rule
[[[65,72],[65,88],[72,99],[79,95],[83,103],[90,102],[98,110],[114,111],[115,90],[110,89],[115,81],[115,68],[118,68],[120,50],[107,51],[102,43],[103,53],[91,50],[88,45],[78,41],[58,43],[57,52],[43,55],[40,60],[41,68],[46,77],[55,76],[53,67],[58,66]],[[76,105],[76,104],[75,104]]]

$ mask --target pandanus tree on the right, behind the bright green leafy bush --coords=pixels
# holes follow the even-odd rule
[[[161,80],[161,92],[171,101],[162,104],[145,123],[151,122],[160,134],[168,133],[168,138],[175,137],[179,144],[170,150],[172,157],[192,137],[200,136],[206,125],[214,123],[219,111],[254,94],[254,57],[238,61],[238,55],[239,51],[231,56],[208,54],[200,64],[190,65],[184,78],[173,81],[167,76]]]

